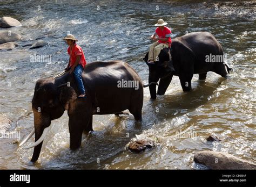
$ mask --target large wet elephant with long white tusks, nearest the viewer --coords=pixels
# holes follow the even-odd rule
[[[58,78],[43,78],[36,82],[32,99],[34,131],[23,140],[22,146],[35,133],[31,161],[37,161],[43,139],[51,120],[60,118],[68,110],[70,148],[81,145],[83,132],[92,131],[93,114],[116,114],[126,109],[136,120],[142,119],[143,84],[136,71],[122,61],[91,62],[82,74],[87,98],[78,98],[72,74]]]

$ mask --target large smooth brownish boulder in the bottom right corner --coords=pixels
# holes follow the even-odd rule
[[[194,161],[210,169],[256,169],[256,164],[223,152],[202,151],[194,155]]]

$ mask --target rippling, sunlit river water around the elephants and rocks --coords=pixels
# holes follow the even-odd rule
[[[194,75],[193,91],[187,93],[175,76],[165,96],[154,101],[145,88],[142,123],[133,116],[94,116],[95,132],[90,138],[84,135],[82,147],[75,152],[69,149],[65,112],[52,121],[35,165],[28,163],[33,149],[18,148],[16,139],[0,139],[0,169],[206,169],[193,162],[200,150],[227,152],[255,162],[255,5],[239,1],[1,1],[0,17],[16,18],[22,27],[0,30],[17,32],[22,40],[12,51],[0,51],[0,112],[11,120],[8,131],[21,132],[22,139],[33,128],[31,99],[36,80],[58,74],[68,63],[62,40],[68,32],[79,39],[87,62],[125,61],[147,83],[149,70],[142,59],[151,44],[153,24],[163,18],[172,29],[172,38],[186,32],[211,32],[223,46],[233,73],[224,80],[210,72],[205,82]],[[22,47],[41,37],[47,46]],[[51,59],[31,62],[31,55],[51,55]],[[175,136],[177,132],[191,137]],[[124,147],[136,134],[156,138],[157,146],[141,154],[128,152]],[[207,142],[210,134],[222,141]]]

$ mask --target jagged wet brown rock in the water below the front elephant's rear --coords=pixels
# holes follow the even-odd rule
[[[126,145],[126,147],[131,152],[143,152],[146,148],[152,148],[156,145],[156,140],[146,137],[143,134],[136,135],[136,138],[131,139],[131,141]]]

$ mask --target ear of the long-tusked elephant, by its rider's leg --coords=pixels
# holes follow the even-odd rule
[[[62,103],[65,110],[69,110],[70,104],[77,98],[77,93],[68,84],[60,85],[58,88],[60,103]]]

